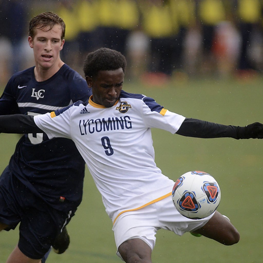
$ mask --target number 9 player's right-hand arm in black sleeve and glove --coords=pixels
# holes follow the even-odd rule
[[[186,118],[176,133],[197,138],[262,139],[263,124],[255,122],[245,127],[239,127]]]

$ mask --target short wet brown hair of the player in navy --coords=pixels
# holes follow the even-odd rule
[[[60,18],[57,14],[53,12],[44,12],[41,13],[35,17],[33,17],[29,22],[29,36],[34,38],[36,32],[35,28],[43,29],[47,26],[49,28],[46,31],[49,31],[55,26],[56,24],[59,24],[62,27],[62,34],[61,34],[61,40],[65,38],[65,28],[66,25],[62,18]]]

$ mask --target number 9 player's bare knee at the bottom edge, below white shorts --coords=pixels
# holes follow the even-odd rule
[[[151,263],[151,248],[139,238],[123,242],[119,253],[126,263]]]

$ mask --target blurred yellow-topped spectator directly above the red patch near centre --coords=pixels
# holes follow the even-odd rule
[[[172,74],[176,58],[176,38],[179,32],[177,19],[172,19],[171,9],[167,1],[145,0],[140,2],[142,13],[142,28],[150,38],[150,58],[148,70],[159,76],[167,78]]]

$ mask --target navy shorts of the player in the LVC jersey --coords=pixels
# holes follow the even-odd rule
[[[76,210],[75,210],[76,211]],[[19,225],[19,249],[31,259],[41,259],[75,211],[47,205],[21,183],[7,167],[0,176],[0,222]]]

